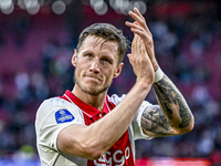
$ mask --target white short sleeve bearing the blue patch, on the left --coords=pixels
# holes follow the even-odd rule
[[[77,123],[83,124],[84,120],[74,104],[59,97],[44,101],[39,107],[35,118],[38,146],[57,152],[59,133]]]

